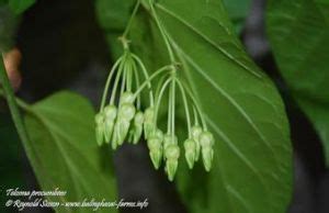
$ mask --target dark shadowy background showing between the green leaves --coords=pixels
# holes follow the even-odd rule
[[[79,3],[75,0],[38,0],[25,12],[16,34],[16,46],[23,55],[23,83],[19,96],[24,100],[34,102],[57,90],[71,89],[98,103],[112,61],[93,8],[93,0],[81,0]],[[294,145],[295,173],[294,195],[287,212],[329,213],[329,172],[325,167],[322,147],[311,124],[286,92],[277,72],[264,33],[264,0],[252,1],[240,37],[250,56],[275,81],[285,101]],[[3,108],[0,102],[0,113],[4,117],[1,122],[11,123]],[[1,145],[1,197],[3,190],[13,186],[38,188],[12,124],[2,131],[5,141],[12,143]],[[115,153],[114,162],[120,198],[148,198],[149,208],[139,212],[185,212],[164,173],[152,169],[145,146],[124,145]],[[1,198],[1,202],[3,200]],[[10,210],[4,209],[3,212]],[[53,211],[32,209],[24,212]]]

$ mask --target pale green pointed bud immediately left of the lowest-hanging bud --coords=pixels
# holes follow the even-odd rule
[[[162,158],[162,141],[157,136],[149,137],[147,141],[147,146],[149,148],[149,156],[156,169],[160,167]]]

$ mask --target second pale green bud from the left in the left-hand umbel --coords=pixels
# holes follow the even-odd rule
[[[115,105],[107,105],[104,108],[104,136],[106,143],[111,141],[116,114],[117,110]]]

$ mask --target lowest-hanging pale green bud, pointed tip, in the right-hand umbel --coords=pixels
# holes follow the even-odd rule
[[[177,168],[178,168],[178,159],[180,157],[180,148],[178,145],[170,144],[164,149],[166,156],[166,171],[170,181],[173,180]]]

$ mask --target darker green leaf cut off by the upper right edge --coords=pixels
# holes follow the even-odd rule
[[[273,0],[266,15],[280,71],[319,133],[329,165],[329,2]]]

